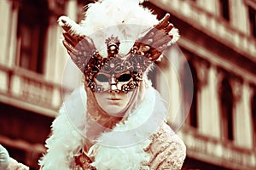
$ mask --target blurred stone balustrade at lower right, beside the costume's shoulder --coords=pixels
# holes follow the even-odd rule
[[[231,169],[255,169],[256,152],[237,147],[230,141],[221,141],[204,136],[191,127],[183,127],[179,132],[187,146],[187,155]]]

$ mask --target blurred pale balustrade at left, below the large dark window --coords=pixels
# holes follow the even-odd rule
[[[32,71],[0,65],[0,102],[55,116],[62,102],[61,85]]]

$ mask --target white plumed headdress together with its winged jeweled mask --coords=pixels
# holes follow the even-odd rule
[[[143,1],[90,3],[80,24],[60,17],[59,24],[66,31],[63,44],[93,92],[108,90],[97,86],[99,71],[109,75],[130,71],[133,80],[118,92],[137,88],[152,63],[177,41],[178,31],[169,22],[170,14],[159,21],[140,3]]]

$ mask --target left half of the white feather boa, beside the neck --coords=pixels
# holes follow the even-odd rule
[[[79,131],[84,130],[85,107],[81,102],[84,102],[82,98],[86,98],[86,94],[82,89],[74,90],[52,123],[51,135],[45,144],[47,153],[39,161],[42,170],[69,170],[74,164],[73,156],[83,145],[83,136]]]

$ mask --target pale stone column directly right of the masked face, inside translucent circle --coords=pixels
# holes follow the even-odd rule
[[[156,87],[161,97],[166,101],[167,121],[172,127],[180,127],[184,117],[182,115],[180,67],[183,65],[177,48],[166,50],[166,58],[161,59],[157,68]],[[167,59],[168,58],[168,59]]]

